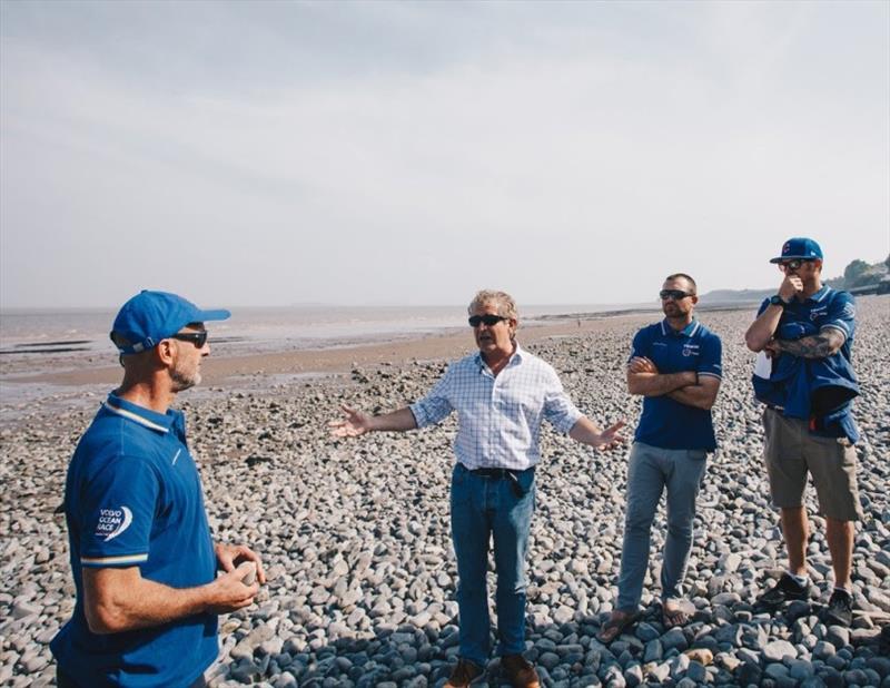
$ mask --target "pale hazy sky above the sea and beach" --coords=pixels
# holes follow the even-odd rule
[[[890,250],[890,3],[0,2],[0,306],[651,301]]]

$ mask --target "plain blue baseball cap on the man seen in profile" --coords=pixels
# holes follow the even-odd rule
[[[115,318],[111,341],[120,336],[129,342],[115,345],[121,354],[138,354],[157,346],[189,323],[225,321],[231,313],[225,309],[201,311],[190,301],[167,292],[141,291],[123,304]]]

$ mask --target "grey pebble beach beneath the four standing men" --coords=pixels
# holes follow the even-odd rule
[[[852,628],[825,627],[831,568],[824,522],[813,519],[810,573],[821,599],[775,616],[752,602],[784,563],[761,460],[751,313],[705,313],[723,338],[725,376],[714,407],[720,441],[699,498],[684,628],[663,628],[654,602],[610,646],[594,639],[611,611],[623,532],[626,449],[599,453],[550,430],[537,473],[528,558],[528,659],[546,686],[890,686],[879,627],[890,620],[890,299],[861,298],[854,364],[860,494]],[[626,419],[624,363],[637,325],[564,336],[530,348],[551,362],[597,422]],[[521,333],[522,334],[522,333]],[[467,333],[467,336],[469,334]],[[446,362],[409,362],[265,390],[180,397],[200,464],[211,527],[264,558],[268,584],[249,609],[220,618],[211,686],[441,686],[457,653],[456,570],[448,527],[455,422],[407,434],[332,440],[340,403],[368,411],[423,395]],[[98,405],[97,400],[97,405]],[[70,617],[73,583],[61,502],[65,471],[93,411],[36,406],[0,430],[0,684],[52,685],[49,640]],[[814,513],[812,490],[808,505]],[[663,544],[663,510],[652,548]],[[182,556],[188,556],[184,552]],[[493,583],[493,577],[492,577]],[[500,685],[497,660],[487,675]]]

